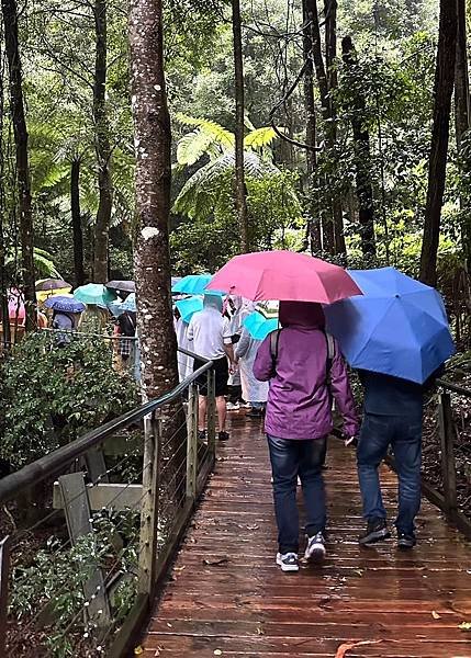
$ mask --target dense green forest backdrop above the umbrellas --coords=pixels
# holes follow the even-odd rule
[[[305,46],[309,5],[321,37],[312,52]],[[170,0],[164,11],[172,271],[214,271],[239,250],[231,10],[223,0]],[[242,3],[251,249],[307,249],[352,266],[391,263],[418,274],[438,18],[435,0]],[[78,284],[132,277],[136,145],[126,24],[120,0],[34,0],[19,16],[36,277],[55,271]],[[3,290],[24,279],[7,55]],[[467,132],[457,135],[451,121],[438,248],[445,287],[464,266],[468,149]]]

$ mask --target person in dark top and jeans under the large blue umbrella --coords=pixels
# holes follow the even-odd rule
[[[391,536],[378,474],[390,446],[399,477],[397,546],[407,549],[416,544],[414,520],[420,508],[423,398],[438,375],[437,371],[419,385],[359,371],[365,402],[357,465],[367,521],[367,529],[359,537],[360,545],[369,546]]]

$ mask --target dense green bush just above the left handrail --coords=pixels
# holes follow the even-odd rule
[[[0,367],[0,453],[14,468],[137,404],[134,382],[112,368],[108,341],[54,341],[48,332],[31,334]]]

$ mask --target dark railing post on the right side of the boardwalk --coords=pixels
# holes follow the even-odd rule
[[[455,462],[455,430],[449,393],[439,395],[439,428],[441,444],[441,475],[444,478],[445,510],[452,517],[457,509],[457,472]]]

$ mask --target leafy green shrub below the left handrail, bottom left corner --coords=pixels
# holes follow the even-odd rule
[[[110,623],[115,627],[125,619],[135,599],[136,512],[122,511],[111,518],[105,512],[97,512],[92,524],[93,533],[77,540],[71,548],[65,548],[63,542],[51,537],[33,558],[20,556],[13,568],[9,613],[27,624],[42,611],[45,644],[52,658],[74,657],[79,646],[93,650],[99,644],[93,619],[85,621],[82,612],[88,606],[83,586],[97,568],[105,574],[111,568],[113,576],[121,576],[111,610]],[[23,564],[25,559],[30,561]]]

